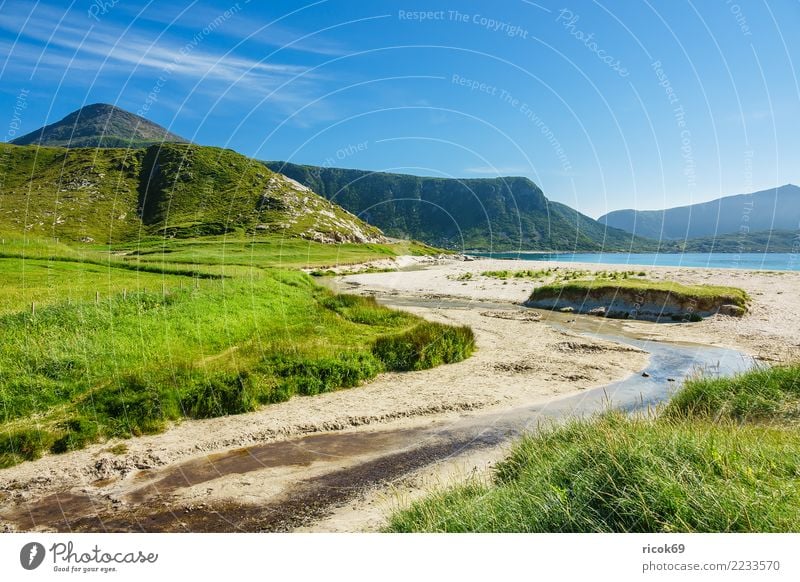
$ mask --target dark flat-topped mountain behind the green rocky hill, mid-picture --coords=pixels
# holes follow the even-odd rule
[[[469,250],[655,249],[548,200],[527,178],[448,179],[265,162],[387,235]]]

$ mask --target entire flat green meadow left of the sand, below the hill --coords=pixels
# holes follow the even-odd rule
[[[3,246],[0,467],[456,362],[474,349],[469,328],[336,295],[274,266],[284,250],[297,266],[326,264],[337,246],[350,259],[393,256],[391,246],[262,240],[249,257],[243,241],[113,255]]]

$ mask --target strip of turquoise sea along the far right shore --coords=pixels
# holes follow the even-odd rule
[[[707,267],[765,271],[800,271],[800,253],[475,253],[493,259],[565,261],[643,267]]]

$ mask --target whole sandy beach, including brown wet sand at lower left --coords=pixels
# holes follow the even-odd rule
[[[587,337],[587,331],[611,329],[657,341],[723,346],[769,362],[800,356],[800,273],[645,268],[651,279],[737,286],[753,299],[743,318],[655,324],[540,314],[517,305],[529,295],[532,282],[481,276],[487,270],[539,268],[545,266],[542,263],[442,260],[415,265],[403,260],[402,266],[407,270],[348,275],[334,285],[375,295],[427,319],[471,326],[478,347],[473,357],[421,372],[383,374],[357,388],[294,398],[254,413],[184,421],[163,434],[47,455],[2,470],[0,527],[92,529],[80,520],[90,513],[101,524],[94,528],[112,524],[108,529],[124,529],[123,524],[134,523],[133,529],[141,525],[149,531],[153,528],[145,518],[158,513],[156,531],[191,531],[203,529],[205,516],[214,513],[230,524],[230,531],[249,531],[258,529],[245,517],[253,508],[280,508],[305,499],[300,493],[314,479],[349,486],[344,479],[357,476],[359,484],[367,483],[358,468],[379,466],[388,451],[408,462],[398,461],[392,471],[384,469],[380,487],[354,485],[358,491],[336,497],[307,523],[287,522],[284,528],[375,529],[392,507],[431,487],[485,473],[505,447],[440,455],[431,463],[406,459],[418,444],[419,431],[563,398],[628,377],[647,365],[646,352]],[[472,274],[468,280],[465,273]],[[302,437],[318,440],[298,440]],[[434,441],[428,443],[432,450]],[[120,443],[124,452],[114,447]],[[233,463],[232,455],[247,462]],[[181,481],[176,475],[196,477]],[[324,481],[332,475],[338,480]],[[51,511],[36,513],[35,508]],[[117,523],[118,517],[124,519]]]

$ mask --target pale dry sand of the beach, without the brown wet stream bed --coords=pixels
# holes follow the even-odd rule
[[[795,315],[787,317],[778,317],[780,313],[769,308],[770,301],[782,295],[787,285],[789,290],[800,288],[800,274],[790,275],[780,285],[776,284],[777,276],[764,277],[761,273],[734,277],[746,280],[751,289],[757,290],[753,313],[738,323],[723,316],[691,324],[653,324],[551,313],[543,313],[545,321],[538,321],[525,315],[534,310],[516,305],[525,297],[526,289],[530,291],[532,282],[503,284],[478,277],[464,285],[465,281],[457,280],[463,272],[490,270],[492,262],[504,268],[510,263],[437,259],[421,269],[347,275],[330,281],[348,292],[375,295],[382,302],[394,301],[398,308],[426,319],[472,326],[478,350],[468,360],[421,372],[382,374],[356,388],[293,398],[249,414],[184,421],[158,435],[107,442],[64,455],[47,455],[0,470],[0,490],[7,492],[0,510],[0,528],[29,529],[20,527],[20,515],[36,507],[43,498],[66,493],[88,499],[89,507],[94,508],[89,511],[135,515],[137,491],[192,463],[221,463],[238,451],[252,456],[248,451],[270,443],[294,442],[304,435],[373,438],[380,433],[420,430],[433,423],[455,423],[514,407],[555,402],[628,377],[647,365],[649,356],[645,352],[582,335],[595,328],[654,341],[726,346],[761,359],[779,358],[783,352],[797,354],[800,348],[789,345],[786,339],[791,337],[793,329],[800,328],[800,322],[795,323],[800,305]],[[530,261],[517,263],[519,268],[530,267]],[[601,270],[598,265],[564,265],[564,268],[592,267]],[[664,277],[674,275],[671,273],[674,269],[669,267],[649,270],[655,273],[657,269],[661,269],[659,273]],[[603,265],[603,270],[609,270],[609,266]],[[448,277],[451,275],[454,277]],[[718,276],[678,275],[684,279]],[[406,305],[402,304],[403,297],[409,298]],[[437,307],[439,300],[448,305]],[[425,305],[415,305],[415,301]],[[450,305],[453,301],[457,303],[455,307]],[[798,302],[796,296],[794,301]],[[550,323],[566,325],[569,320],[580,325],[570,329]],[[793,325],[796,327],[792,329]],[[761,333],[756,333],[760,329]],[[794,338],[795,344],[797,341]],[[113,454],[110,449],[120,443],[125,444],[126,452]],[[261,464],[248,471],[184,484],[168,497],[158,496],[151,501],[167,504],[176,513],[198,504],[219,508],[231,503],[269,506],[291,496],[294,489],[309,479],[358,468],[359,463],[375,458],[375,451],[344,454],[338,453],[337,448],[332,450],[332,455],[312,457],[299,465],[267,466],[269,463],[262,459]],[[299,527],[347,531],[347,527],[355,527],[361,519],[359,523],[364,528],[374,529],[377,514],[386,510],[380,499],[388,499],[387,496],[400,491],[403,497],[411,498],[430,485],[456,478],[464,471],[480,473],[501,458],[503,451],[501,445],[414,468],[393,479],[394,486],[390,483],[375,490],[367,487],[355,502],[348,500],[338,509],[334,507],[330,517]],[[56,502],[59,507],[63,505],[58,498]],[[86,511],[85,505],[79,507]],[[174,517],[173,521],[180,520]],[[53,527],[52,523],[42,525],[45,529]]]

